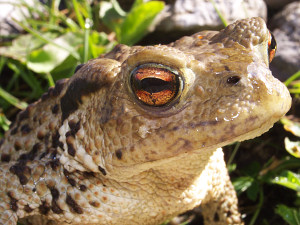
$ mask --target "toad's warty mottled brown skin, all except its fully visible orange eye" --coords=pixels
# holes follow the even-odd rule
[[[267,41],[252,18],[167,46],[118,45],[81,66],[1,141],[0,223],[159,224],[201,204],[206,224],[242,224],[220,147],[264,133],[291,104]],[[180,74],[169,104],[132,91],[145,63]]]

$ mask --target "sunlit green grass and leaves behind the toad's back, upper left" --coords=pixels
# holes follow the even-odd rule
[[[110,51],[117,43],[132,45],[149,30],[163,9],[160,1],[136,0],[129,12],[116,0],[34,0],[13,4],[23,13],[17,23],[24,33],[0,43],[0,127],[8,129],[16,109],[38,99],[56,80],[70,77],[78,64]],[[9,37],[0,37],[2,39]],[[10,74],[10,75],[7,75]],[[25,83],[25,84],[24,84]]]

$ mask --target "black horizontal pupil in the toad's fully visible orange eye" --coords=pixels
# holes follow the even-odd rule
[[[145,78],[140,82],[141,89],[149,93],[157,93],[164,90],[172,90],[171,82],[158,78]]]

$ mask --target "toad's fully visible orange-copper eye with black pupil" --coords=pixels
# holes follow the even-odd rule
[[[181,76],[177,71],[154,63],[136,67],[131,72],[130,83],[137,99],[149,106],[171,103],[182,88]]]

